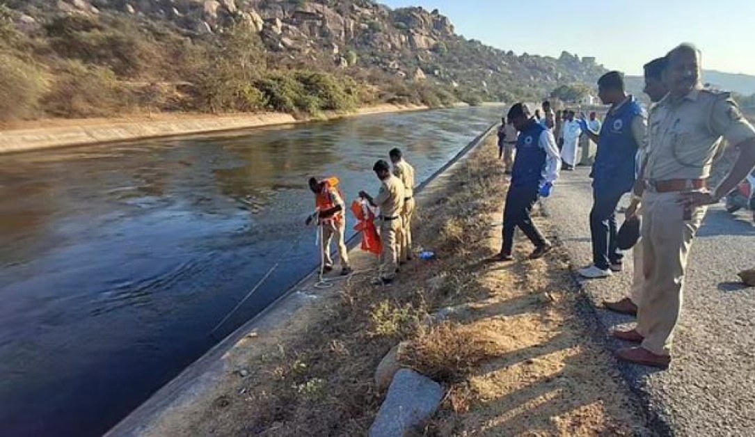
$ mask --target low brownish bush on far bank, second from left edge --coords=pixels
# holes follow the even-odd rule
[[[57,67],[53,85],[43,101],[51,115],[104,117],[122,109],[122,97],[122,88],[112,70],[68,60]]]

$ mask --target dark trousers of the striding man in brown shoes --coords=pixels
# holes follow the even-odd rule
[[[529,214],[532,212],[532,206],[538,202],[540,197],[540,187],[537,184],[526,186],[511,186],[506,195],[506,205],[504,206],[504,242],[501,253],[510,255],[514,245],[514,231],[516,226],[522,229],[524,235],[527,235],[529,241],[535,247],[545,245],[547,242],[532,223]]]

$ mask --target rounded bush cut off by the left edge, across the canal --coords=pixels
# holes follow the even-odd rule
[[[0,53],[0,120],[35,115],[48,86],[48,76],[42,69],[12,54]]]

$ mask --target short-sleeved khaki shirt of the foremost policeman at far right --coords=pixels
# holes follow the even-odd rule
[[[755,129],[728,93],[695,89],[669,96],[650,112],[645,178],[706,179],[721,138],[736,146],[755,139]]]

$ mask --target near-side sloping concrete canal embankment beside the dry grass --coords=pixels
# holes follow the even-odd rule
[[[486,129],[418,187],[415,192],[420,207],[428,199],[437,198],[439,193],[448,189],[453,182],[455,168],[462,165],[467,155],[494,130],[495,126]],[[350,257],[356,270],[366,272],[374,268],[374,257],[354,249],[354,245],[356,241],[351,242]],[[267,310],[186,368],[107,435],[174,434],[174,423],[181,422],[181,417],[201,409],[198,405],[207,405],[208,402],[212,405],[214,399],[222,398],[233,380],[239,376],[246,377],[248,364],[245,363],[260,359],[259,355],[263,353],[260,351],[284,347],[282,345],[291,340],[291,333],[296,333],[297,327],[316,325],[325,309],[341,299],[341,284],[319,289],[316,287],[317,281],[315,272],[307,276]]]

